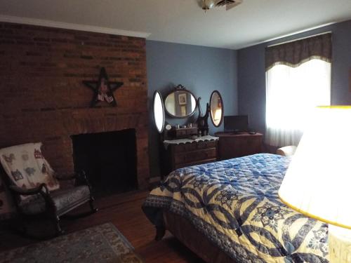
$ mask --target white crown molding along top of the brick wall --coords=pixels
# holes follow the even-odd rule
[[[103,34],[113,34],[119,36],[135,36],[143,39],[147,39],[150,36],[150,33],[147,32],[135,32],[124,29],[114,29],[109,27],[95,27],[93,25],[80,25],[67,22],[57,22],[52,20],[41,20],[37,18],[22,18],[12,15],[0,15],[0,22],[11,22],[16,24],[24,25],[38,25],[41,27],[55,27],[62,29],[72,29],[86,32],[95,32]]]

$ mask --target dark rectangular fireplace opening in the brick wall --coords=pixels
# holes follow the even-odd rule
[[[95,196],[138,188],[135,129],[72,135],[74,170],[84,170]]]

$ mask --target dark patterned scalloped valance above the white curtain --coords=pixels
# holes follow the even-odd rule
[[[275,65],[298,67],[314,58],[331,62],[331,33],[267,47],[265,69],[267,71]]]

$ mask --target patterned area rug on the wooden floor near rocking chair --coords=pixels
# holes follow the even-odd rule
[[[49,241],[0,253],[0,262],[141,263],[134,248],[113,224],[101,224]]]

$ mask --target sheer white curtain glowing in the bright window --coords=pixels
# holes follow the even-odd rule
[[[266,143],[298,145],[311,109],[330,104],[331,63],[313,59],[272,67],[266,72]]]

